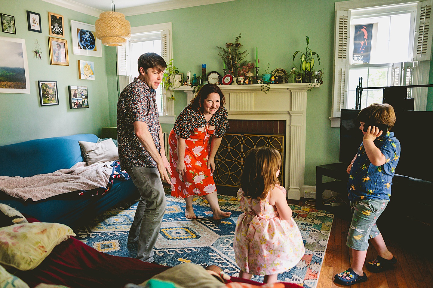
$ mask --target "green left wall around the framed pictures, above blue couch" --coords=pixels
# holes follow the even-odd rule
[[[28,30],[26,10],[41,14],[42,33]],[[69,66],[50,65],[48,12],[64,16]],[[72,53],[70,21],[94,24],[97,18],[41,0],[0,0],[0,13],[15,17],[16,35],[1,32],[0,35],[26,40],[30,75],[30,94],[0,93],[0,145],[78,133],[98,135],[101,127],[109,126],[105,47],[102,57]],[[36,59],[33,52],[36,39],[42,60]],[[94,62],[95,80],[78,79],[78,60]],[[59,105],[40,106],[38,80],[57,80]],[[68,85],[87,85],[89,108],[69,109]]]

